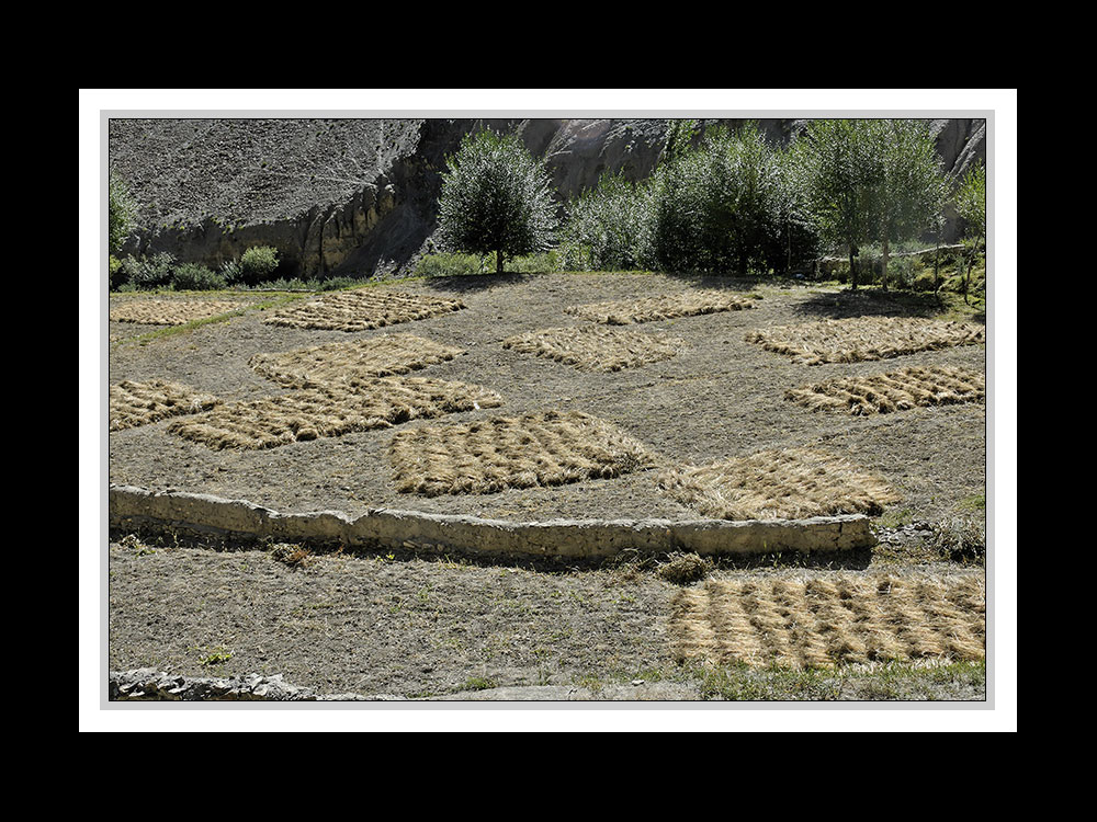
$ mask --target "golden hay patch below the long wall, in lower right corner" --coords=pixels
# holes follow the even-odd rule
[[[802,669],[986,655],[982,574],[709,580],[671,608],[681,661]]]

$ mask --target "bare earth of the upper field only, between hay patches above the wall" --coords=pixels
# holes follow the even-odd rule
[[[970,345],[893,361],[805,366],[747,343],[750,329],[864,312],[909,313],[890,299],[766,289],[757,308],[634,328],[666,331],[685,340],[678,356],[612,374],[573,366],[501,346],[512,334],[581,324],[564,313],[569,305],[671,294],[693,286],[732,287],[726,281],[685,282],[656,275],[532,275],[407,282],[391,287],[460,297],[467,310],[348,334],[262,323],[262,311],[147,345],[123,342],[110,354],[110,380],[159,377],[225,400],[282,393],[248,367],[257,352],[279,352],[385,333],[408,332],[466,353],[431,365],[418,376],[475,383],[499,391],[500,409],[407,423],[437,425],[494,414],[546,410],[585,411],[603,418],[671,460],[704,464],[762,448],[818,445],[853,458],[900,492],[896,509],[920,520],[949,513],[985,487],[985,409],[982,404],[853,418],[812,412],[784,401],[789,388],[828,377],[870,374],[905,365],[984,369],[985,349]],[[385,286],[389,287],[389,286]],[[745,288],[745,286],[744,286]],[[128,295],[115,299],[128,299]],[[113,300],[112,300],[113,302]],[[112,340],[139,333],[117,328]],[[157,423],[110,437],[110,479],[145,488],[247,499],[284,512],[335,509],[351,515],[370,507],[414,509],[502,520],[553,517],[695,516],[665,496],[654,471],[545,489],[427,499],[395,490],[387,458],[393,431],[294,443],[269,450],[211,450],[167,434]]]

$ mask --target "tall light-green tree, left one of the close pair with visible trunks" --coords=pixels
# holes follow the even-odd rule
[[[823,238],[848,249],[853,289],[859,247],[877,228],[873,144],[871,121],[813,119],[794,149],[806,207]]]

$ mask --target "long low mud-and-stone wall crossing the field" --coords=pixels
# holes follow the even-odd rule
[[[835,551],[875,544],[861,514],[810,520],[552,520],[514,523],[372,509],[282,514],[210,494],[110,489],[110,527],[276,543],[341,545],[477,557],[606,559],[623,551],[743,555]]]

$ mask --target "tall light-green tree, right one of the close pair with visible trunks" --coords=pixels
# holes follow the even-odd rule
[[[870,235],[887,272],[891,243],[934,228],[945,208],[946,178],[924,119],[868,121]],[[884,277],[884,287],[887,279]]]

